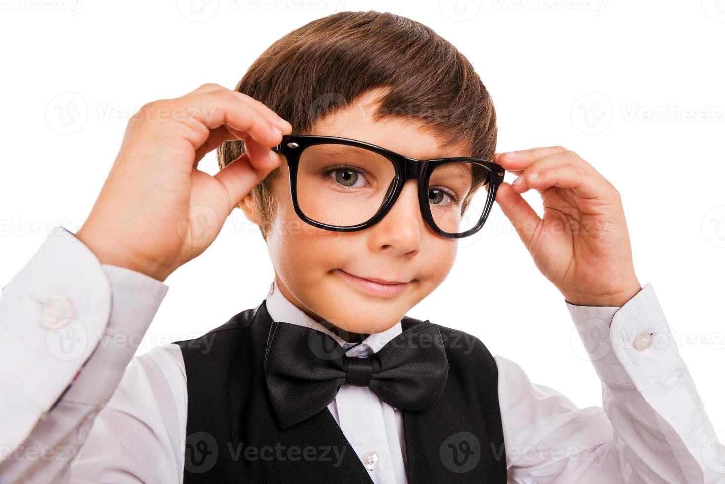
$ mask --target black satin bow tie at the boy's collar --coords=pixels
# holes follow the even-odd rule
[[[396,409],[428,409],[443,392],[447,376],[440,331],[428,320],[368,358],[347,356],[317,329],[273,321],[265,354],[265,381],[282,428],[324,410],[340,385],[370,387]]]

